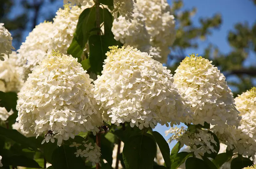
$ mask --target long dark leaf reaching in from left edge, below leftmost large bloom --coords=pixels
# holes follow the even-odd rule
[[[0,135],[12,139],[14,142],[19,143],[24,147],[33,148],[35,151],[37,150],[36,143],[20,134],[17,130],[8,130],[0,126]]]

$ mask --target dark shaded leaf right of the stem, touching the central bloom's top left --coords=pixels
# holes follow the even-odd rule
[[[103,70],[103,61],[107,58],[105,55],[109,48],[108,46],[118,45],[119,43],[111,35],[92,35],[89,38],[89,60],[91,70],[95,74],[101,74]]]

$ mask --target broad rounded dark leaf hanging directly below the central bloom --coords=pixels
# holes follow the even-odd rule
[[[123,159],[126,169],[153,169],[155,156],[156,143],[151,137],[133,136],[124,144]]]

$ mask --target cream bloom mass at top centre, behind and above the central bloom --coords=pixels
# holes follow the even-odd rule
[[[169,46],[175,40],[175,21],[166,0],[138,0],[134,4],[132,21],[119,16],[113,22],[116,40],[125,46],[150,52],[154,59],[166,62]]]

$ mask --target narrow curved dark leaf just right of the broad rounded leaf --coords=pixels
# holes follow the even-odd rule
[[[165,141],[164,137],[157,131],[153,131],[153,136],[156,139],[156,143],[162,153],[164,162],[167,168],[171,168],[171,159],[170,159],[170,147]]]

